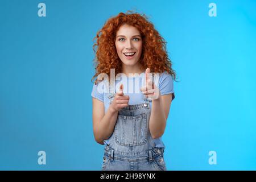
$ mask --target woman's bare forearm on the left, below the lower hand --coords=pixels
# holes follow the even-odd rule
[[[115,122],[117,121],[117,115],[118,111],[109,107],[104,117],[97,123],[94,136],[98,143],[103,144],[103,141],[112,135]]]

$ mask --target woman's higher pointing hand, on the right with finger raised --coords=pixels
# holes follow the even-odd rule
[[[145,82],[146,85],[142,86],[141,92],[151,100],[157,100],[159,98],[159,89],[158,86],[154,84],[154,81],[150,77],[150,69],[147,68],[145,71]]]

